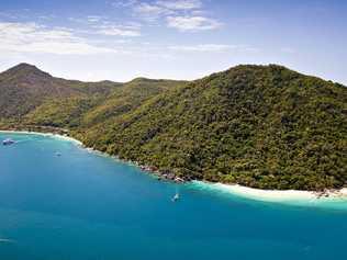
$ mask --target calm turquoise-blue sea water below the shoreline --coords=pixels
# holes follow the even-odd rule
[[[347,259],[347,206],[256,202],[160,182],[67,140],[7,137],[19,143],[0,147],[0,259]]]

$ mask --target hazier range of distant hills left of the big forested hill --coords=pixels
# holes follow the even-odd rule
[[[0,74],[0,118],[55,127],[97,124],[181,83],[145,78],[127,83],[82,82],[20,64]]]

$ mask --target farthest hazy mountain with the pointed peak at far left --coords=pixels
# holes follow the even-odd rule
[[[0,116],[18,117],[52,99],[107,95],[114,82],[86,83],[54,78],[35,66],[20,64],[0,74]]]

